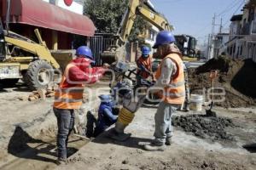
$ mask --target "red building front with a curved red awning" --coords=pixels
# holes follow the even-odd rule
[[[75,36],[94,36],[96,27],[83,15],[83,4],[73,0],[15,0],[9,5],[9,30],[37,41],[38,28],[47,47],[72,49]],[[8,3],[0,0],[1,19],[6,26]]]

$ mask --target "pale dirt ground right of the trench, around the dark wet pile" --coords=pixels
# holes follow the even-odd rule
[[[142,148],[153,137],[155,109],[141,108],[126,129],[131,139],[116,142],[108,139],[108,132],[103,133],[57,169],[255,169],[256,150],[245,150],[242,145],[256,142],[256,110],[216,111],[237,125],[227,129],[235,142],[207,141],[176,128],[171,146],[163,152],[148,152]]]

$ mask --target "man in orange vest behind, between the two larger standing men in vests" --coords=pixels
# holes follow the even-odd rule
[[[142,56],[137,59],[137,85],[141,85],[142,79],[147,79],[149,76],[152,76],[152,60],[149,57],[150,48],[148,46],[143,46],[141,48]]]

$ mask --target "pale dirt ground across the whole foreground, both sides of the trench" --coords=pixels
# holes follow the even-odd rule
[[[96,87],[97,88],[97,87]],[[95,92],[95,91],[94,91]],[[105,89],[104,93],[107,93]],[[29,102],[31,92],[22,85],[0,92],[0,169],[256,169],[256,150],[244,144],[256,143],[256,108],[216,108],[218,116],[230,118],[235,126],[224,128],[234,140],[201,138],[175,127],[173,144],[164,152],[148,152],[143,144],[153,139],[155,107],[137,111],[125,130],[126,142],[108,139],[108,132],[90,141],[72,137],[67,164],[55,164],[55,116],[53,99]],[[96,93],[93,93],[96,95]],[[94,97],[96,99],[96,96]],[[84,110],[97,103],[85,104]],[[204,114],[177,112],[176,116]],[[250,146],[250,145],[249,145]],[[252,145],[251,145],[252,146]]]

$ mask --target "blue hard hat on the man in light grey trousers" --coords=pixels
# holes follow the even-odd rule
[[[175,42],[175,37],[171,31],[160,31],[156,36],[153,48],[158,48],[160,45],[170,44],[172,42]]]

